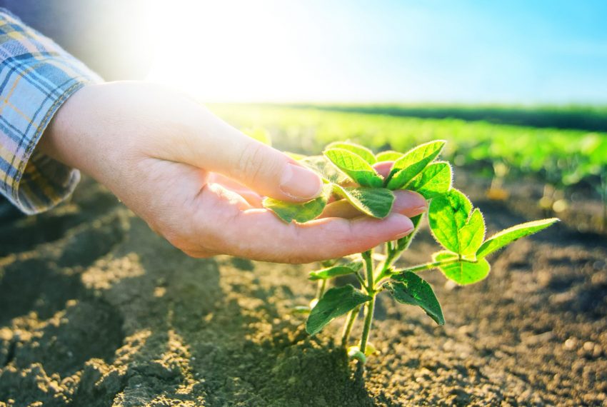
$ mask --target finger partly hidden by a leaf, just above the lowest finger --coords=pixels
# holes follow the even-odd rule
[[[394,204],[392,205],[392,213],[401,213],[402,215],[411,217],[423,213],[428,208],[426,199],[420,194],[413,191],[393,191],[394,192]],[[352,206],[346,199],[331,202],[328,204],[321,218],[356,218],[363,216],[363,213],[358,211]]]

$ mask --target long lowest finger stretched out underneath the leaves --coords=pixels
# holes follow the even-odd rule
[[[309,263],[336,258],[361,253],[413,230],[411,220],[400,213],[383,220],[323,218],[284,223],[266,209],[236,208],[212,189],[205,188],[201,195],[197,245],[204,251],[254,260]],[[195,251],[189,248],[189,252]]]

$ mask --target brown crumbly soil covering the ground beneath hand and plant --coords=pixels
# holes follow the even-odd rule
[[[490,231],[526,220],[476,189]],[[423,231],[405,260],[435,248]],[[446,326],[382,296],[363,370],[340,323],[311,338],[291,313],[313,265],[189,258],[85,180],[0,226],[0,406],[607,406],[606,260],[564,221],[474,286],[426,272]]]

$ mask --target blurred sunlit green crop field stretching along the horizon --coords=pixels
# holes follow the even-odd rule
[[[391,105],[343,105],[340,108],[331,105],[213,104],[209,107],[245,132],[267,131],[279,149],[315,154],[330,141],[349,139],[376,151],[406,151],[425,141],[445,139],[449,143],[444,156],[457,166],[468,166],[493,176],[493,169],[499,163],[506,166],[511,177],[533,176],[559,188],[583,184],[604,193],[607,133],[557,127],[563,126],[566,118],[573,116],[579,126],[584,114],[588,121],[605,121],[606,115],[601,116],[601,113],[606,109],[575,106],[536,110],[474,106],[449,108],[453,116],[457,116],[454,111],[468,112],[469,118],[488,117],[487,112],[493,112],[492,121],[496,121],[500,114],[509,116],[510,121],[526,123],[530,122],[530,117],[543,117],[545,126],[538,127],[481,120],[410,117],[404,116],[406,109],[402,106],[401,114],[377,113],[388,113],[386,106]],[[338,111],[337,108],[348,111]],[[411,113],[413,106],[407,109]],[[426,116],[440,110],[427,106],[426,109]],[[416,110],[417,116],[424,116],[423,106]],[[443,114],[448,111],[444,108]],[[475,111],[476,114],[472,114]],[[550,117],[551,121],[548,120]]]

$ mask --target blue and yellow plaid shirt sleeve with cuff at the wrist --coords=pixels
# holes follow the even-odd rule
[[[101,78],[0,9],[0,193],[24,213],[52,208],[80,179],[35,147],[57,109]]]

